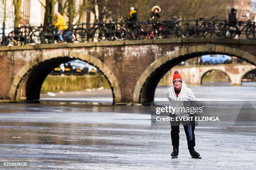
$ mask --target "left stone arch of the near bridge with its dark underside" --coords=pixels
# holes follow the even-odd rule
[[[38,55],[34,60],[27,62],[14,76],[9,91],[11,100],[20,99],[20,92],[25,82],[26,86],[24,85],[24,87],[26,87],[26,100],[39,100],[41,86],[51,70],[61,63],[76,59],[88,62],[100,70],[110,84],[113,103],[120,102],[121,91],[118,80],[108,66],[96,57],[67,49],[49,51],[43,55]]]

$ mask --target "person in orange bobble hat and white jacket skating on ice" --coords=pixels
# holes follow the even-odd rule
[[[172,87],[169,87],[167,92],[167,98],[172,103],[172,107],[184,107],[184,102],[189,102],[195,104],[195,95],[193,91],[187,87],[186,83],[182,81],[182,77],[178,71],[174,72]],[[182,101],[182,102],[180,102]],[[175,105],[175,106],[174,106]],[[172,146],[173,152],[171,154],[172,158],[178,158],[179,155],[179,125],[182,123],[186,136],[187,136],[187,145],[189,149],[189,153],[192,158],[201,158],[200,154],[197,153],[194,149],[195,147],[195,120],[191,121],[175,121],[176,117],[185,117],[190,116],[193,117],[193,114],[188,114],[187,112],[175,112],[174,114],[170,114],[170,117],[173,117],[174,121],[171,122],[171,138],[172,138]]]

